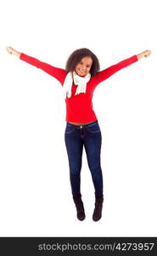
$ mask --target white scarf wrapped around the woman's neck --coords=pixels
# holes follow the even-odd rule
[[[77,86],[76,94],[86,93],[87,90],[87,82],[91,79],[91,73],[87,73],[85,77],[81,77],[77,75],[75,71],[69,72],[64,79],[63,89],[64,89],[64,97],[70,98],[71,96],[71,88],[74,81]]]

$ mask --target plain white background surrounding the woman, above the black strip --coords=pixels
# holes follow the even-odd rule
[[[157,236],[155,4],[1,1],[0,236]],[[152,50],[94,91],[103,137],[104,210],[98,223],[92,219],[94,189],[85,151],[81,194],[87,218],[76,218],[61,85],[8,55],[7,46],[62,68],[73,50],[87,47],[101,70]]]

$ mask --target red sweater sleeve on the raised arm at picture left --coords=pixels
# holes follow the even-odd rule
[[[20,60],[25,61],[31,64],[32,66],[42,69],[49,75],[53,76],[55,79],[58,79],[62,85],[64,84],[64,79],[67,74],[64,69],[59,67],[53,67],[45,62],[37,60],[36,58],[33,58],[29,55],[25,55],[24,53],[20,54]]]

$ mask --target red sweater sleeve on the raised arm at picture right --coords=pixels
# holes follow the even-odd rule
[[[121,61],[111,67],[108,67],[100,72],[98,72],[95,76],[95,81],[96,84],[101,83],[102,81],[104,81],[105,79],[109,79],[109,77],[111,75],[113,75],[114,73],[116,73],[117,71],[121,70],[121,68],[127,67],[129,65],[131,65],[132,63],[137,61],[137,55],[133,55],[130,58],[127,58],[124,61]]]

